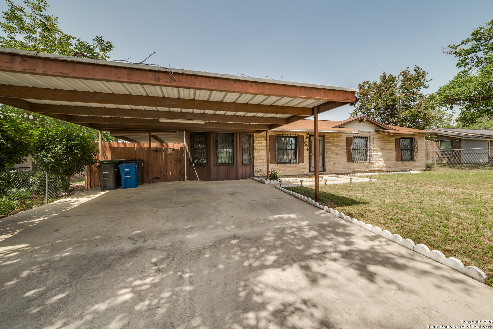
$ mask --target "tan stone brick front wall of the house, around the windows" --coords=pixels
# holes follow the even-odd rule
[[[270,168],[279,169],[283,175],[306,175],[309,173],[309,145],[307,134],[304,135],[304,163],[298,164],[270,164]],[[395,161],[396,136],[383,135],[375,132],[360,132],[359,134],[320,134],[325,136],[325,173],[342,174],[368,171],[402,171],[423,170],[425,168],[424,135],[414,137],[418,145],[416,161]],[[346,161],[346,137],[370,137],[371,158],[368,162]],[[405,138],[406,136],[401,136]],[[270,143],[276,142],[276,134],[269,134]],[[265,133],[255,134],[254,141],[254,174],[266,175],[266,141]]]

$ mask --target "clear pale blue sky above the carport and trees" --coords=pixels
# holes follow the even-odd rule
[[[493,19],[491,0],[48,3],[64,32],[113,41],[112,59],[140,62],[157,51],[148,63],[351,88],[419,65],[434,78],[429,92],[458,71],[440,46]],[[351,110],[320,119],[346,119]]]

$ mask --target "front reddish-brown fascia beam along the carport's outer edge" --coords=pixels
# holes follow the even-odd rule
[[[59,56],[55,59],[45,56],[50,55],[34,52],[32,55],[0,52],[0,71],[228,93],[354,102],[354,91],[326,89],[317,86],[296,86],[278,81],[252,81],[243,77],[224,78],[213,75],[190,74],[193,73],[190,71],[170,72],[170,70],[161,68],[99,60],[90,60],[88,63],[86,59],[73,57],[64,59],[63,56]]]

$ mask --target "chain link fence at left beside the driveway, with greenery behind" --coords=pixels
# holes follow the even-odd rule
[[[41,170],[12,171],[14,187],[0,196],[0,215],[8,215],[15,210],[27,210],[59,200],[67,195],[64,190],[65,178],[47,174]],[[71,193],[85,190],[85,173],[70,179]]]

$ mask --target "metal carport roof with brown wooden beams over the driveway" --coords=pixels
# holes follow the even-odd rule
[[[257,133],[352,103],[356,91],[0,47],[1,103],[110,131]]]

